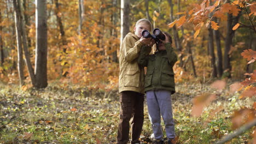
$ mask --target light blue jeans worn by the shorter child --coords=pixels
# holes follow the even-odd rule
[[[149,119],[152,124],[155,139],[160,140],[163,137],[161,128],[161,116],[164,119],[166,137],[174,139],[174,121],[172,116],[171,92],[166,90],[147,91],[147,103]]]

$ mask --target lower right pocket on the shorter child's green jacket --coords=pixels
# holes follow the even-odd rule
[[[174,73],[172,71],[162,70],[161,85],[167,87],[174,87]]]

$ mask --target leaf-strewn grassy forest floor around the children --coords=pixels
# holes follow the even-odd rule
[[[213,143],[233,131],[235,110],[252,105],[252,99],[238,99],[229,85],[221,93],[209,85],[182,83],[172,95],[177,143]],[[202,92],[219,93],[201,117],[191,116],[191,100]],[[60,87],[21,90],[0,84],[1,143],[114,143],[119,119],[117,91],[91,92],[83,88]],[[144,102],[142,143],[151,143],[147,101]],[[164,127],[163,127],[164,129]],[[229,143],[250,143],[252,129]]]

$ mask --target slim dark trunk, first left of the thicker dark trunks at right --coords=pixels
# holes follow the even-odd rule
[[[215,54],[214,54],[214,45],[213,45],[213,29],[211,26],[208,26],[208,35],[209,35],[209,40],[208,40],[208,45],[209,45],[209,53],[211,56],[211,67],[212,67],[212,77],[217,77],[217,70],[216,70],[216,65],[215,65]]]

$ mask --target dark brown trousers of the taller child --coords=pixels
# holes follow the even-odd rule
[[[130,119],[131,143],[139,143],[142,125],[144,121],[144,94],[124,91],[120,93],[120,119],[118,123],[118,144],[126,144],[129,141]]]

